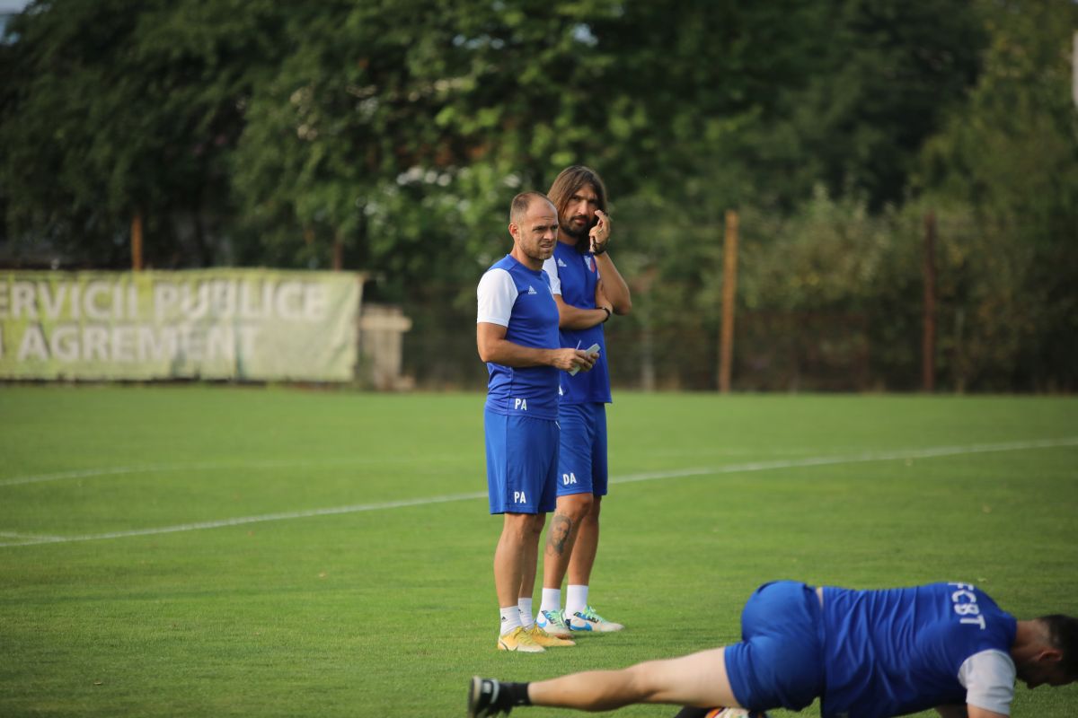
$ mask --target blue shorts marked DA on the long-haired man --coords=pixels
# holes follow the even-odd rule
[[[606,496],[606,405],[563,404],[557,423],[562,425],[557,495]]]

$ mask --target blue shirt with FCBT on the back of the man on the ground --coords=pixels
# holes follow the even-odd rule
[[[967,689],[980,691],[970,665],[982,656],[1010,664],[1009,675],[992,680],[1001,684],[997,693],[1013,693],[1009,652],[1018,622],[973,586],[825,588],[823,613],[825,717],[901,716],[965,704]],[[1009,695],[1004,699],[1009,706]]]

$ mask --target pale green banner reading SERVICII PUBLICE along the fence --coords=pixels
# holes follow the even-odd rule
[[[348,381],[362,279],[0,271],[0,379]]]

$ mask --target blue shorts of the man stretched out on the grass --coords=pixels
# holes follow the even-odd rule
[[[727,646],[727,676],[743,708],[801,710],[824,692],[823,611],[816,591],[764,583],[742,611],[742,643]]]

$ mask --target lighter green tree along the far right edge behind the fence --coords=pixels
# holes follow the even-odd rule
[[[1078,5],[989,3],[992,44],[969,102],[922,156],[941,208],[955,383],[1073,389],[1078,369]]]

